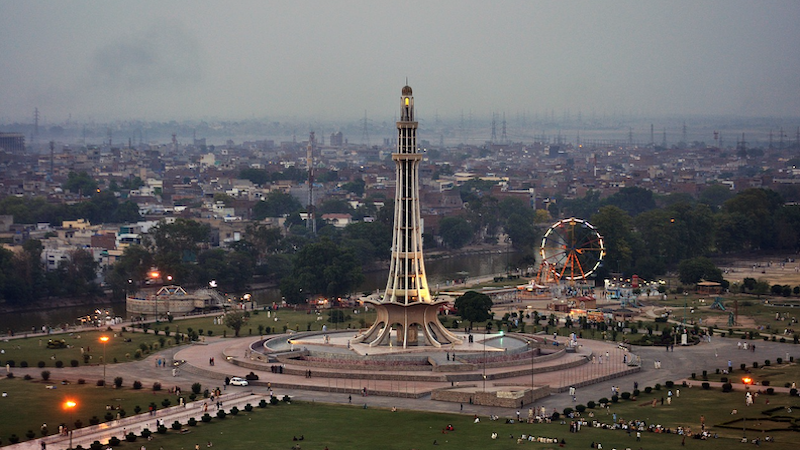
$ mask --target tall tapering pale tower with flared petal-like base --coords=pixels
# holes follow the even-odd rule
[[[404,348],[409,345],[440,347],[442,344],[460,343],[439,322],[438,308],[447,301],[434,302],[431,299],[425,276],[419,204],[422,154],[417,151],[414,97],[409,86],[403,87],[400,96],[397,138],[397,153],[392,154],[397,166],[397,181],[389,278],[383,299],[373,302],[378,312],[375,324],[356,340],[370,346],[394,344]],[[392,341],[392,330],[397,331],[395,341]]]

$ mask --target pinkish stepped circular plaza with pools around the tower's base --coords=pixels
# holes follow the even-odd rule
[[[439,349],[369,347],[353,342],[355,330],[283,334],[192,346],[176,358],[186,361],[182,370],[219,378],[252,372],[256,386],[501,407],[640,370],[635,355],[604,342],[569,347],[563,337],[554,345],[543,335],[457,334],[462,344]],[[208,366],[209,355],[225,363]]]

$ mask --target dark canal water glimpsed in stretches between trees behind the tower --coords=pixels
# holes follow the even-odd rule
[[[425,261],[428,273],[428,286],[431,291],[444,290],[454,280],[466,277],[478,277],[493,274],[503,274],[507,264],[516,267],[519,255],[506,254],[505,251],[460,255],[449,258],[430,259]],[[364,274],[364,283],[357,292],[374,292],[386,288],[385,270],[371,271]],[[253,292],[259,304],[279,302],[280,290],[277,288],[262,289]],[[110,305],[98,305],[98,309],[109,310],[114,316],[127,319],[125,302],[116,302]],[[28,331],[32,327],[41,329],[43,325],[56,326],[58,324],[75,324],[79,317],[94,313],[91,306],[68,306],[41,311],[23,311],[0,314],[0,334],[8,330],[15,332]]]

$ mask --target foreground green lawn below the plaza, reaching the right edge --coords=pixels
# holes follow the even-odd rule
[[[661,392],[663,394],[663,392]],[[659,423],[668,427],[677,425],[692,426],[699,429],[700,415],[705,413],[706,423],[730,421],[731,417],[745,424],[746,435],[750,438],[773,436],[775,443],[768,444],[773,449],[796,448],[795,432],[765,431],[771,426],[768,416],[761,413],[763,406],[751,407],[758,410],[743,411],[740,415],[731,416],[729,403],[741,403],[738,396],[722,400],[719,392],[684,390],[681,398],[675,399],[671,406],[652,408],[646,399],[626,404],[615,405],[611,412],[594,411],[595,417],[604,423],[612,421],[613,413],[622,419],[642,419],[647,423]],[[645,400],[641,402],[641,400]],[[787,398],[788,400],[788,398]],[[642,406],[641,403],[646,403]],[[779,400],[775,398],[774,404]],[[800,403],[800,402],[798,402]],[[705,408],[698,409],[705,404]],[[255,405],[254,405],[255,406]],[[798,405],[800,406],[800,405]],[[743,409],[743,406],[739,406]],[[793,420],[797,420],[796,414]],[[784,420],[785,420],[784,416]],[[777,423],[777,422],[776,422]],[[455,429],[448,433],[443,430],[447,425]],[[733,425],[738,426],[738,423]],[[470,415],[440,414],[431,412],[397,411],[386,409],[363,409],[360,406],[339,406],[312,403],[294,403],[289,405],[269,406],[266,409],[255,408],[252,412],[240,412],[236,416],[229,415],[225,419],[214,418],[208,424],[199,423],[195,427],[184,427],[187,432],[169,431],[164,435],[154,435],[152,442],[139,438],[134,443],[124,443],[122,448],[136,449],[140,445],[165,449],[190,450],[195,445],[203,447],[211,442],[214,447],[245,450],[262,448],[267,450],[290,449],[298,445],[301,449],[511,449],[520,445],[532,448],[557,448],[554,443],[517,443],[521,435],[555,438],[566,442],[566,448],[590,448],[592,442],[602,443],[604,449],[614,448],[658,448],[678,449],[681,436],[677,434],[657,434],[645,432],[642,441],[637,442],[635,433],[628,434],[622,430],[606,430],[583,427],[579,433],[570,433],[567,424],[556,421],[551,424],[507,424],[505,420],[490,421],[482,418],[474,423]],[[687,446],[708,450],[727,449],[732,445],[741,445],[740,428],[714,428],[720,433],[718,439],[687,439]],[[497,439],[491,439],[497,433]],[[295,437],[303,437],[302,441],[294,441]],[[765,444],[767,445],[767,444]],[[685,448],[685,447],[683,447]]]

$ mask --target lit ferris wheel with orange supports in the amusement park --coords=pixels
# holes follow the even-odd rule
[[[592,224],[572,217],[547,229],[539,254],[547,278],[575,281],[584,280],[597,270],[606,248],[603,237]]]

